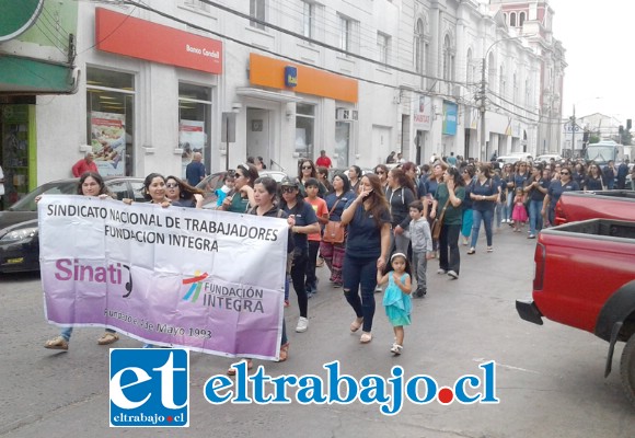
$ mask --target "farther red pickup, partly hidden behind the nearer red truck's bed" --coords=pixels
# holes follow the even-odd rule
[[[635,220],[635,191],[565,192],[555,207],[555,224],[587,219]]]

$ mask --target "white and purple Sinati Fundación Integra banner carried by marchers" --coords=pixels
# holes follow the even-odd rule
[[[46,195],[46,318],[222,356],[278,354],[288,226],[278,218]]]

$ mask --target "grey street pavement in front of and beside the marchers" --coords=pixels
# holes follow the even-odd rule
[[[483,233],[483,230],[482,230]],[[78,328],[70,350],[43,348],[58,328],[44,319],[39,278],[0,277],[0,437],[633,437],[635,410],[622,393],[619,345],[613,373],[603,378],[608,344],[593,335],[550,321],[538,326],[519,319],[515,300],[531,293],[535,240],[503,224],[493,253],[478,242],[476,254],[461,246],[461,276],[438,275],[428,265],[428,296],[415,300],[404,350],[393,342],[381,296],[373,341],[359,343],[349,324],[354,313],[342,289],[319,268],[320,291],[309,301],[309,330],[295,333],[298,308],[291,290],[286,310],[289,360],[264,365],[272,376],[325,376],[322,366],[339,360],[357,379],[427,374],[440,385],[463,374],[483,376],[478,365],[496,361],[498,404],[425,405],[406,402],[394,416],[378,404],[211,405],[207,379],[223,374],[230,359],[190,354],[190,425],[187,429],[119,429],[108,426],[108,347],[96,345],[101,328]],[[139,347],[123,336],[114,347]]]

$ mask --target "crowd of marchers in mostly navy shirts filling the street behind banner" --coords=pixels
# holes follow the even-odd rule
[[[594,163],[520,160],[513,164],[477,162],[451,154],[432,157],[430,164],[413,162],[378,164],[363,173],[357,165],[330,177],[330,160],[301,159],[298,175],[277,184],[259,176],[253,163],[228,172],[218,192],[218,209],[284,218],[289,226],[287,287],[297,295],[300,316],[296,332],[309,328],[309,300],[320,290],[316,266],[326,266],[333,288],[342,288],[355,318],[351,332],[361,331],[360,343],[372,339],[376,292],[394,327],[391,351],[402,354],[404,326],[411,323],[412,298],[427,293],[427,264],[438,258],[437,274],[460,278],[460,245],[466,254],[477,252],[481,226],[486,252],[494,251],[494,233],[503,223],[527,238],[554,223],[554,209],[564,192],[623,188],[627,162],[605,169]],[[259,159],[262,162],[262,159]],[[323,164],[323,165],[318,165]],[[625,165],[625,168],[624,168]],[[262,169],[262,168],[261,168]],[[203,193],[176,176],[149,174],[143,184],[148,201],[162,207],[200,208]],[[78,194],[108,196],[96,172],[81,175]],[[125,200],[130,201],[130,200]],[[45,347],[68,349],[71,330],[46,342]],[[106,331],[101,345],[116,342]],[[288,357],[289,343],[282,324],[279,360]],[[252,367],[247,360],[247,368]],[[235,370],[230,368],[228,373]]]

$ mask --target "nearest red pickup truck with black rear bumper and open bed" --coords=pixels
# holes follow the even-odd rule
[[[539,234],[533,300],[517,300],[520,318],[570,325],[609,343],[625,342],[620,371],[635,406],[635,222],[592,219],[542,230]]]

